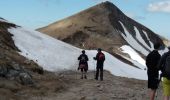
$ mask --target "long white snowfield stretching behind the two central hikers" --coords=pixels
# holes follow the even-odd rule
[[[20,54],[30,60],[34,60],[45,70],[55,72],[60,70],[77,69],[77,57],[81,54],[81,49],[66,44],[40,32],[31,31],[22,27],[10,28],[8,29],[8,31],[14,35],[13,40],[15,42],[15,45],[21,50]],[[136,68],[134,66],[128,65],[110,55],[109,53],[104,52],[106,56],[104,69],[110,71],[113,75],[116,76],[146,80],[147,74],[146,70],[143,70],[143,59],[139,56],[133,58],[133,54],[135,54],[136,52],[134,52],[133,50],[130,51],[131,48],[122,48],[124,52],[131,55],[131,60],[137,62],[137,65],[139,65],[140,67]],[[89,57],[89,69],[94,70],[96,62],[93,60],[93,57],[96,55],[97,51],[86,50],[86,53]]]

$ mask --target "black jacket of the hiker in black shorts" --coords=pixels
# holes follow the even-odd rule
[[[158,74],[159,69],[157,68],[161,55],[157,50],[153,50],[146,57],[146,66],[148,68],[148,73]]]

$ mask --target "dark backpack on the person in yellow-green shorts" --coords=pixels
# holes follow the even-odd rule
[[[168,54],[168,56],[165,59],[164,68],[167,78],[170,79],[170,54]]]

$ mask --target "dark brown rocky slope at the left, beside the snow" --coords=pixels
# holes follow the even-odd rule
[[[0,100],[18,100],[15,93],[35,86],[36,77],[44,70],[32,60],[20,55],[9,28],[19,27],[0,18]]]

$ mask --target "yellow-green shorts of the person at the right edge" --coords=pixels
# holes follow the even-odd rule
[[[162,85],[164,96],[170,96],[170,80],[168,80],[166,77],[163,77]]]

